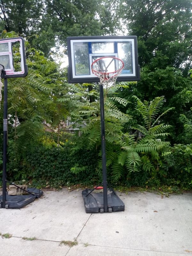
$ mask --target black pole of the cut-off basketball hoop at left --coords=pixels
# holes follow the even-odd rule
[[[7,170],[7,78],[4,78],[4,112],[3,112],[3,195],[2,207],[6,203],[6,170]]]

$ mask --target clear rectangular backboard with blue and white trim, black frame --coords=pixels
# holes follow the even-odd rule
[[[137,36],[72,36],[67,38],[68,45],[68,83],[99,83],[91,65],[101,57],[116,57],[124,62],[124,68],[117,82],[139,81]],[[106,60],[105,67],[108,67]],[[112,69],[118,69],[114,61]],[[111,65],[110,65],[111,66]],[[110,72],[110,70],[108,70]]]

